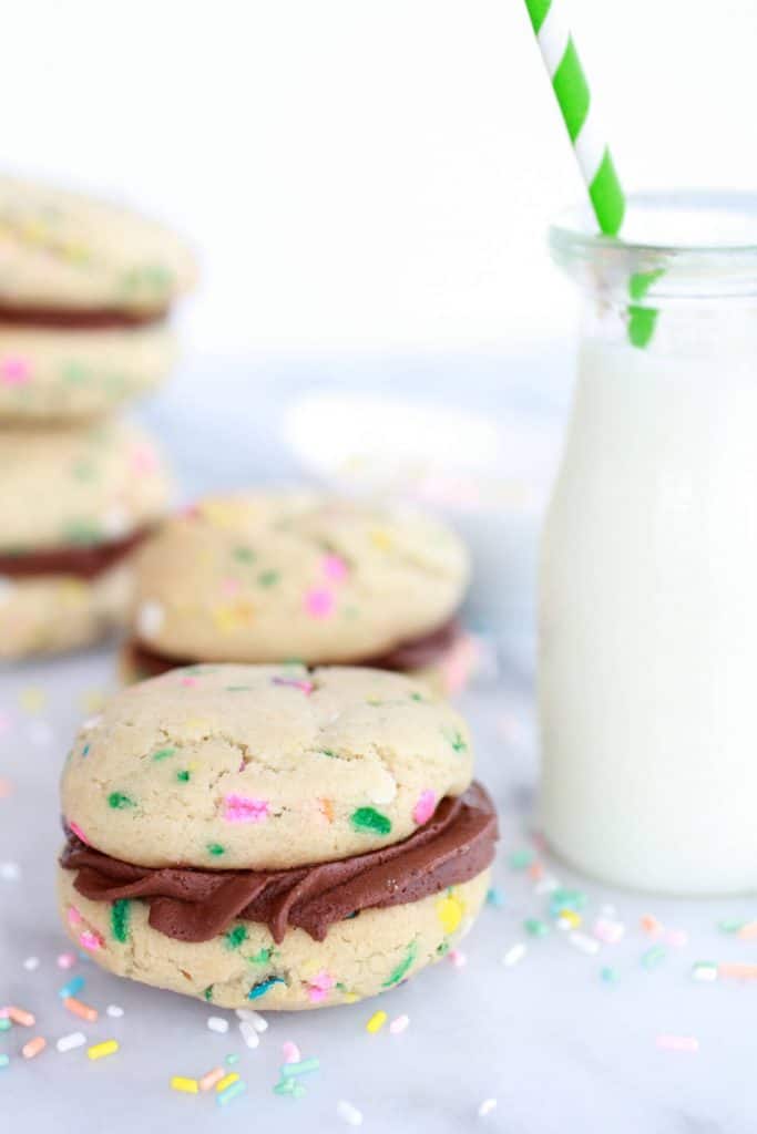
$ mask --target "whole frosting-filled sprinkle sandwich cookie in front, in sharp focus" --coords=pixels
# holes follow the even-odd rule
[[[348,1004],[438,960],[497,823],[465,722],[371,669],[195,666],[117,694],[62,776],[72,940],[226,1008]]]

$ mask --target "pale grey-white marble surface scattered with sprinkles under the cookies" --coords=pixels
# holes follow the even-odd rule
[[[556,354],[558,373],[561,359]],[[185,372],[185,386],[176,383],[146,413],[165,434],[188,494],[253,476],[293,476],[296,465],[283,450],[276,424],[284,399],[325,379],[330,386],[354,386],[356,374],[371,387],[397,382],[406,379],[410,364],[340,363],[329,365],[326,374],[304,363],[218,365],[225,386],[219,378],[213,387],[204,363],[204,369]],[[435,398],[460,397],[476,373],[479,382],[466,396],[469,404],[494,407],[503,420],[533,414],[557,445],[564,382],[539,387],[537,370],[529,372],[525,363],[513,359],[413,363],[411,371],[413,389]],[[249,412],[229,413],[230,403]],[[19,1049],[33,1033],[14,1029],[0,1034],[0,1052],[11,1058],[0,1069],[5,1119],[34,1132],[51,1126],[109,1134],[140,1127],[194,1132],[213,1120],[239,1131],[339,1129],[346,1125],[337,1103],[347,1100],[362,1112],[364,1129],[393,1134],[477,1128],[503,1134],[751,1134],[757,1128],[749,1031],[757,983],[692,978],[698,960],[757,960],[757,942],[718,929],[724,920],[757,916],[757,899],[663,900],[616,892],[577,878],[540,849],[532,837],[531,600],[523,596],[522,626],[508,634],[506,619],[496,633],[486,625],[486,595],[474,598],[476,620],[487,632],[497,665],[490,658],[462,708],[472,721],[479,776],[502,813],[495,868],[502,905],[487,906],[463,943],[464,966],[444,960],[381,998],[390,1018],[410,1017],[402,1035],[386,1027],[368,1034],[364,1025],[377,1006],[368,1002],[334,1013],[270,1014],[260,1047],[251,1051],[233,1014],[218,1013],[229,1017],[230,1026],[228,1034],[217,1035],[207,1029],[211,1009],[204,1005],[131,985],[89,960],[59,970],[56,958],[67,946],[54,905],[57,777],[77,721],[115,687],[115,652],[103,648],[2,671],[0,1004],[18,1002],[34,1012],[34,1033],[49,1041],[48,1050],[25,1061]],[[502,608],[496,610],[502,617]],[[546,881],[512,865],[513,853],[524,849],[533,852]],[[578,930],[583,937],[577,939],[549,916],[550,881],[586,895]],[[594,936],[603,909],[624,926],[617,943]],[[642,929],[648,914],[659,922],[661,936]],[[545,936],[529,936],[523,926],[529,917],[548,923]],[[587,940],[595,941],[596,951],[586,951],[595,948]],[[520,942],[525,945],[520,962],[503,964]],[[650,955],[650,949],[656,951]],[[24,967],[30,957],[39,958],[34,971]],[[603,979],[605,968],[616,979]],[[95,1024],[82,1025],[60,1004],[58,989],[74,973],[86,978],[82,998],[101,1010]],[[104,1015],[109,1004],[124,1008],[123,1018]],[[263,1001],[258,1007],[264,1012]],[[79,1029],[90,1042],[118,1039],[120,1050],[99,1063],[90,1063],[84,1048],[58,1053],[54,1040]],[[661,1035],[696,1039],[698,1051],[661,1049]],[[272,1093],[286,1040],[294,1040],[303,1056],[320,1059],[319,1073],[309,1077],[306,1094],[297,1100]],[[171,1075],[201,1075],[230,1052],[239,1057],[235,1069],[247,1093],[225,1110],[215,1098],[170,1091]],[[486,1099],[496,1099],[497,1106],[479,1117]]]

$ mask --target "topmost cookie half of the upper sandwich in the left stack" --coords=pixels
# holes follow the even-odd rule
[[[195,274],[184,242],[131,209],[0,178],[0,305],[161,311]]]

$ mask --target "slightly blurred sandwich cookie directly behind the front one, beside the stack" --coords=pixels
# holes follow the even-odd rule
[[[463,684],[469,577],[437,521],[316,492],[217,497],[168,521],[137,561],[127,671],[195,661],[367,665]]]

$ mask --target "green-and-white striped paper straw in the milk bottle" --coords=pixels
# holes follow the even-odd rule
[[[591,208],[605,236],[617,236],[625,215],[625,194],[615,170],[591,99],[591,91],[565,23],[562,0],[525,0],[531,26],[552,81],[573,153],[586,183]],[[659,272],[638,272],[629,281],[628,335],[636,347],[646,347],[655,330],[657,311],[642,299]]]

